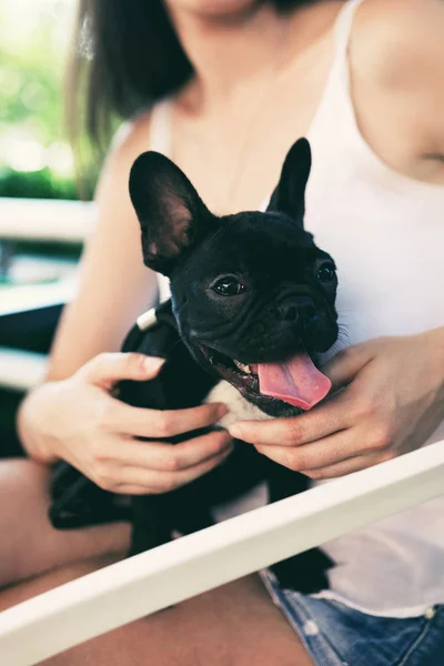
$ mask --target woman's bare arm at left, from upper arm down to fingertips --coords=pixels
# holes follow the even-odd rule
[[[129,494],[179,487],[218,465],[231,446],[225,432],[176,446],[140,442],[211,425],[226,413],[223,405],[157,412],[112,396],[120,380],[150,380],[160,369],[155,359],[115,353],[137,314],[157,294],[155,275],[142,263],[139,224],[128,194],[130,168],[145,150],[147,137],[148,123],[141,118],[110,153],[79,294],[60,324],[48,381],[23,401],[18,421],[31,457],[43,463],[65,460],[101,487]]]

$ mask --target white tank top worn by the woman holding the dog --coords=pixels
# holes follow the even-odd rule
[[[362,0],[336,21],[336,54],[307,133],[313,169],[305,226],[339,268],[349,343],[444,325],[444,188],[386,167],[361,135],[349,91],[347,44]],[[153,109],[150,148],[171,154],[170,102]],[[297,139],[295,137],[294,139]],[[161,280],[161,294],[169,287]],[[444,438],[444,422],[425,444]],[[263,503],[263,492],[220,517]],[[423,614],[444,603],[444,496],[324,545],[336,563],[321,593],[365,613]]]

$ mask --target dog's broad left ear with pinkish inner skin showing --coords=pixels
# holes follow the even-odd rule
[[[132,165],[130,196],[142,230],[143,261],[169,275],[181,254],[206,235],[214,218],[179,167],[153,151]]]

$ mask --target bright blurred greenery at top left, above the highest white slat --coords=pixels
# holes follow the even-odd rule
[[[78,198],[63,118],[74,11],[75,0],[0,2],[0,196]]]

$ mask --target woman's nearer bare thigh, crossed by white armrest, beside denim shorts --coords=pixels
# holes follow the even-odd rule
[[[0,595],[0,609],[105,564],[83,563]],[[49,637],[50,639],[50,637]],[[44,666],[312,666],[258,576],[88,640]],[[42,665],[43,666],[43,663]]]

